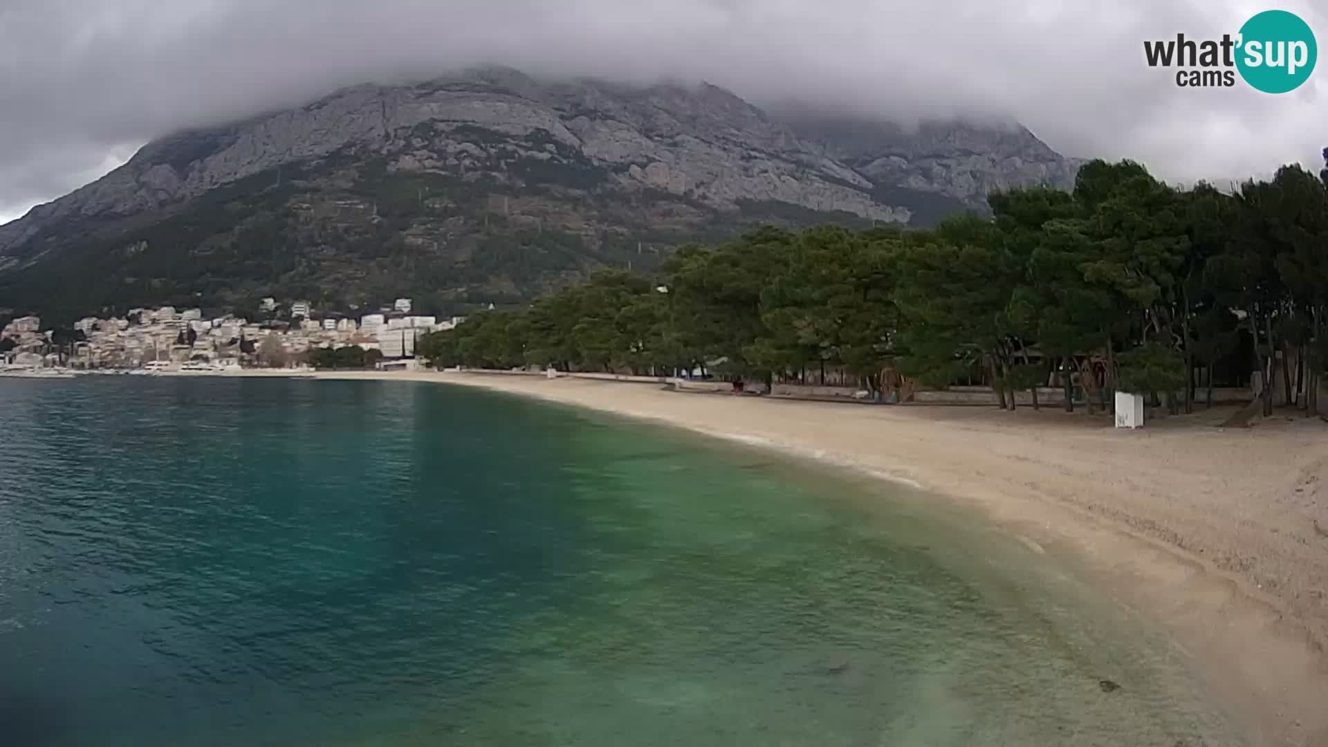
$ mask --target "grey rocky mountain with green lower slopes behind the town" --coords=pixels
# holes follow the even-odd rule
[[[0,226],[3,306],[410,294],[446,311],[758,222],[930,223],[1076,165],[1027,129],[772,116],[709,85],[479,69],[171,136]]]

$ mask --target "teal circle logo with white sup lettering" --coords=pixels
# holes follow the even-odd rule
[[[1236,69],[1264,93],[1287,93],[1309,80],[1319,58],[1315,32],[1300,16],[1264,11],[1240,27]]]

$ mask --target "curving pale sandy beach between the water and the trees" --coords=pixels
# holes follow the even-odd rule
[[[477,372],[227,376],[478,387],[661,423],[922,488],[1029,552],[1082,560],[1096,593],[1157,622],[1256,744],[1328,744],[1328,427],[1219,413],[1142,431],[1058,411],[846,407],[660,384]]]

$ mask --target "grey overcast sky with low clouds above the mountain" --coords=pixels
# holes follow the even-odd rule
[[[1068,156],[1224,186],[1317,166],[1328,64],[1289,94],[1181,89],[1142,43],[1271,7],[1328,41],[1321,0],[0,0],[0,223],[155,136],[479,62],[1013,117]]]

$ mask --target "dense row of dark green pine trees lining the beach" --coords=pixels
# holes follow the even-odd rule
[[[1328,150],[1325,150],[1328,158]],[[1108,407],[1116,388],[1193,407],[1211,368],[1317,407],[1328,360],[1328,169],[1284,166],[1227,194],[1093,161],[1074,191],[995,194],[993,218],[932,229],[761,229],[680,249],[651,279],[606,270],[527,308],[422,340],[437,366],[745,379],[834,367],[879,392],[891,371],[1013,392],[1057,381]],[[1272,387],[1263,387],[1271,412]],[[1301,395],[1300,392],[1304,392]],[[1066,407],[1072,397],[1066,396]]]

